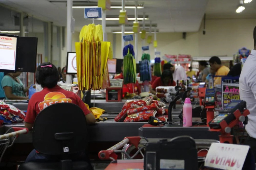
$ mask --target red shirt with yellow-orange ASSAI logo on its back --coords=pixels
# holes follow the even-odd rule
[[[33,94],[28,102],[27,115],[24,121],[33,124],[39,112],[55,103],[73,103],[83,110],[84,115],[90,113],[79,96],[56,85],[53,88],[45,87],[42,91]]]

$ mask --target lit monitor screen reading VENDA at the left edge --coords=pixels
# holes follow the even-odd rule
[[[0,71],[16,71],[18,36],[0,34]]]

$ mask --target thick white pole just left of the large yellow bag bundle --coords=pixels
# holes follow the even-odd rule
[[[67,0],[67,51],[72,51],[72,33],[71,33],[71,18],[72,18],[73,0]],[[71,83],[71,75],[67,74],[66,82]]]

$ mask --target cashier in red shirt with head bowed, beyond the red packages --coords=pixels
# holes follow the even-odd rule
[[[161,77],[156,78],[150,88],[152,94],[156,94],[156,87],[158,86],[176,86],[175,81],[173,81],[171,70],[164,70]]]

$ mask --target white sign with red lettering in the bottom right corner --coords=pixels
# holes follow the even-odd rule
[[[211,168],[241,170],[249,148],[246,145],[212,143],[204,165]]]

